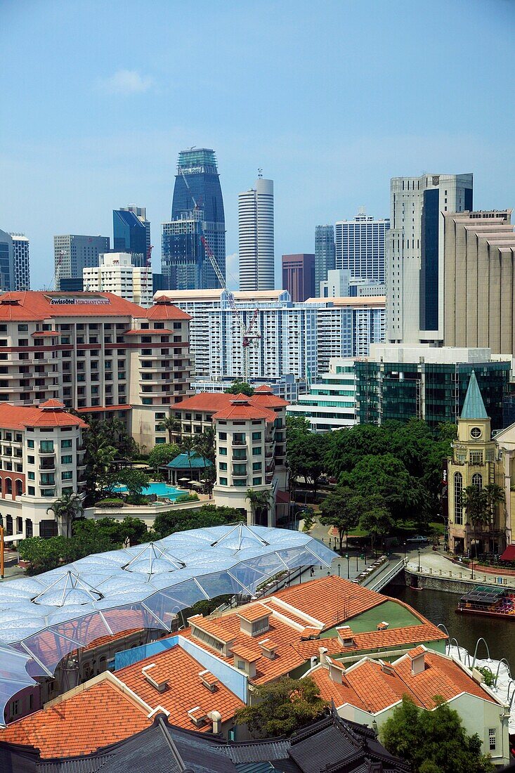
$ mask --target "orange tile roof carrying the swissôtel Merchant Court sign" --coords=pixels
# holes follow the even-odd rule
[[[58,304],[52,300],[79,298],[108,303]],[[0,295],[0,319],[43,320],[53,317],[135,317],[145,318],[147,310],[111,292],[20,291]],[[59,334],[57,334],[59,335]]]

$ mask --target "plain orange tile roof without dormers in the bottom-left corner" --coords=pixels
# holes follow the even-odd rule
[[[43,758],[73,757],[123,741],[150,724],[143,707],[104,679],[12,722],[0,730],[0,741],[34,746]]]

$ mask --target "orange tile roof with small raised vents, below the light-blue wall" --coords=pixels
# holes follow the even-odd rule
[[[155,663],[150,675],[156,682],[166,682],[162,693],[155,690],[145,679],[142,668]],[[244,704],[231,693],[223,683],[217,682],[212,692],[198,678],[205,668],[179,645],[145,660],[140,660],[131,666],[117,671],[115,676],[133,690],[149,706],[162,706],[170,712],[169,723],[186,727],[191,730],[193,724],[188,712],[195,707],[208,711],[220,711],[222,721],[234,716],[237,709]],[[200,728],[203,731],[212,730],[210,724]]]

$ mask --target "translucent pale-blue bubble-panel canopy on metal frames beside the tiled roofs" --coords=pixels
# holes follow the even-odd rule
[[[330,567],[336,554],[305,533],[215,526],[96,553],[0,585],[0,723],[6,703],[63,657],[135,628],[170,631],[182,609],[221,594],[254,596],[285,570]]]

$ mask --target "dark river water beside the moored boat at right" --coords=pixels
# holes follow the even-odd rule
[[[483,636],[489,646],[490,656],[500,660],[506,658],[511,672],[515,673],[515,620],[486,618],[482,615],[462,615],[455,611],[460,594],[443,591],[411,591],[409,587],[389,585],[381,591],[421,612],[431,623],[443,623],[449,635],[454,636],[460,647],[474,654],[478,638]],[[454,643],[454,642],[453,642]],[[478,657],[486,658],[483,642],[478,648]]]

